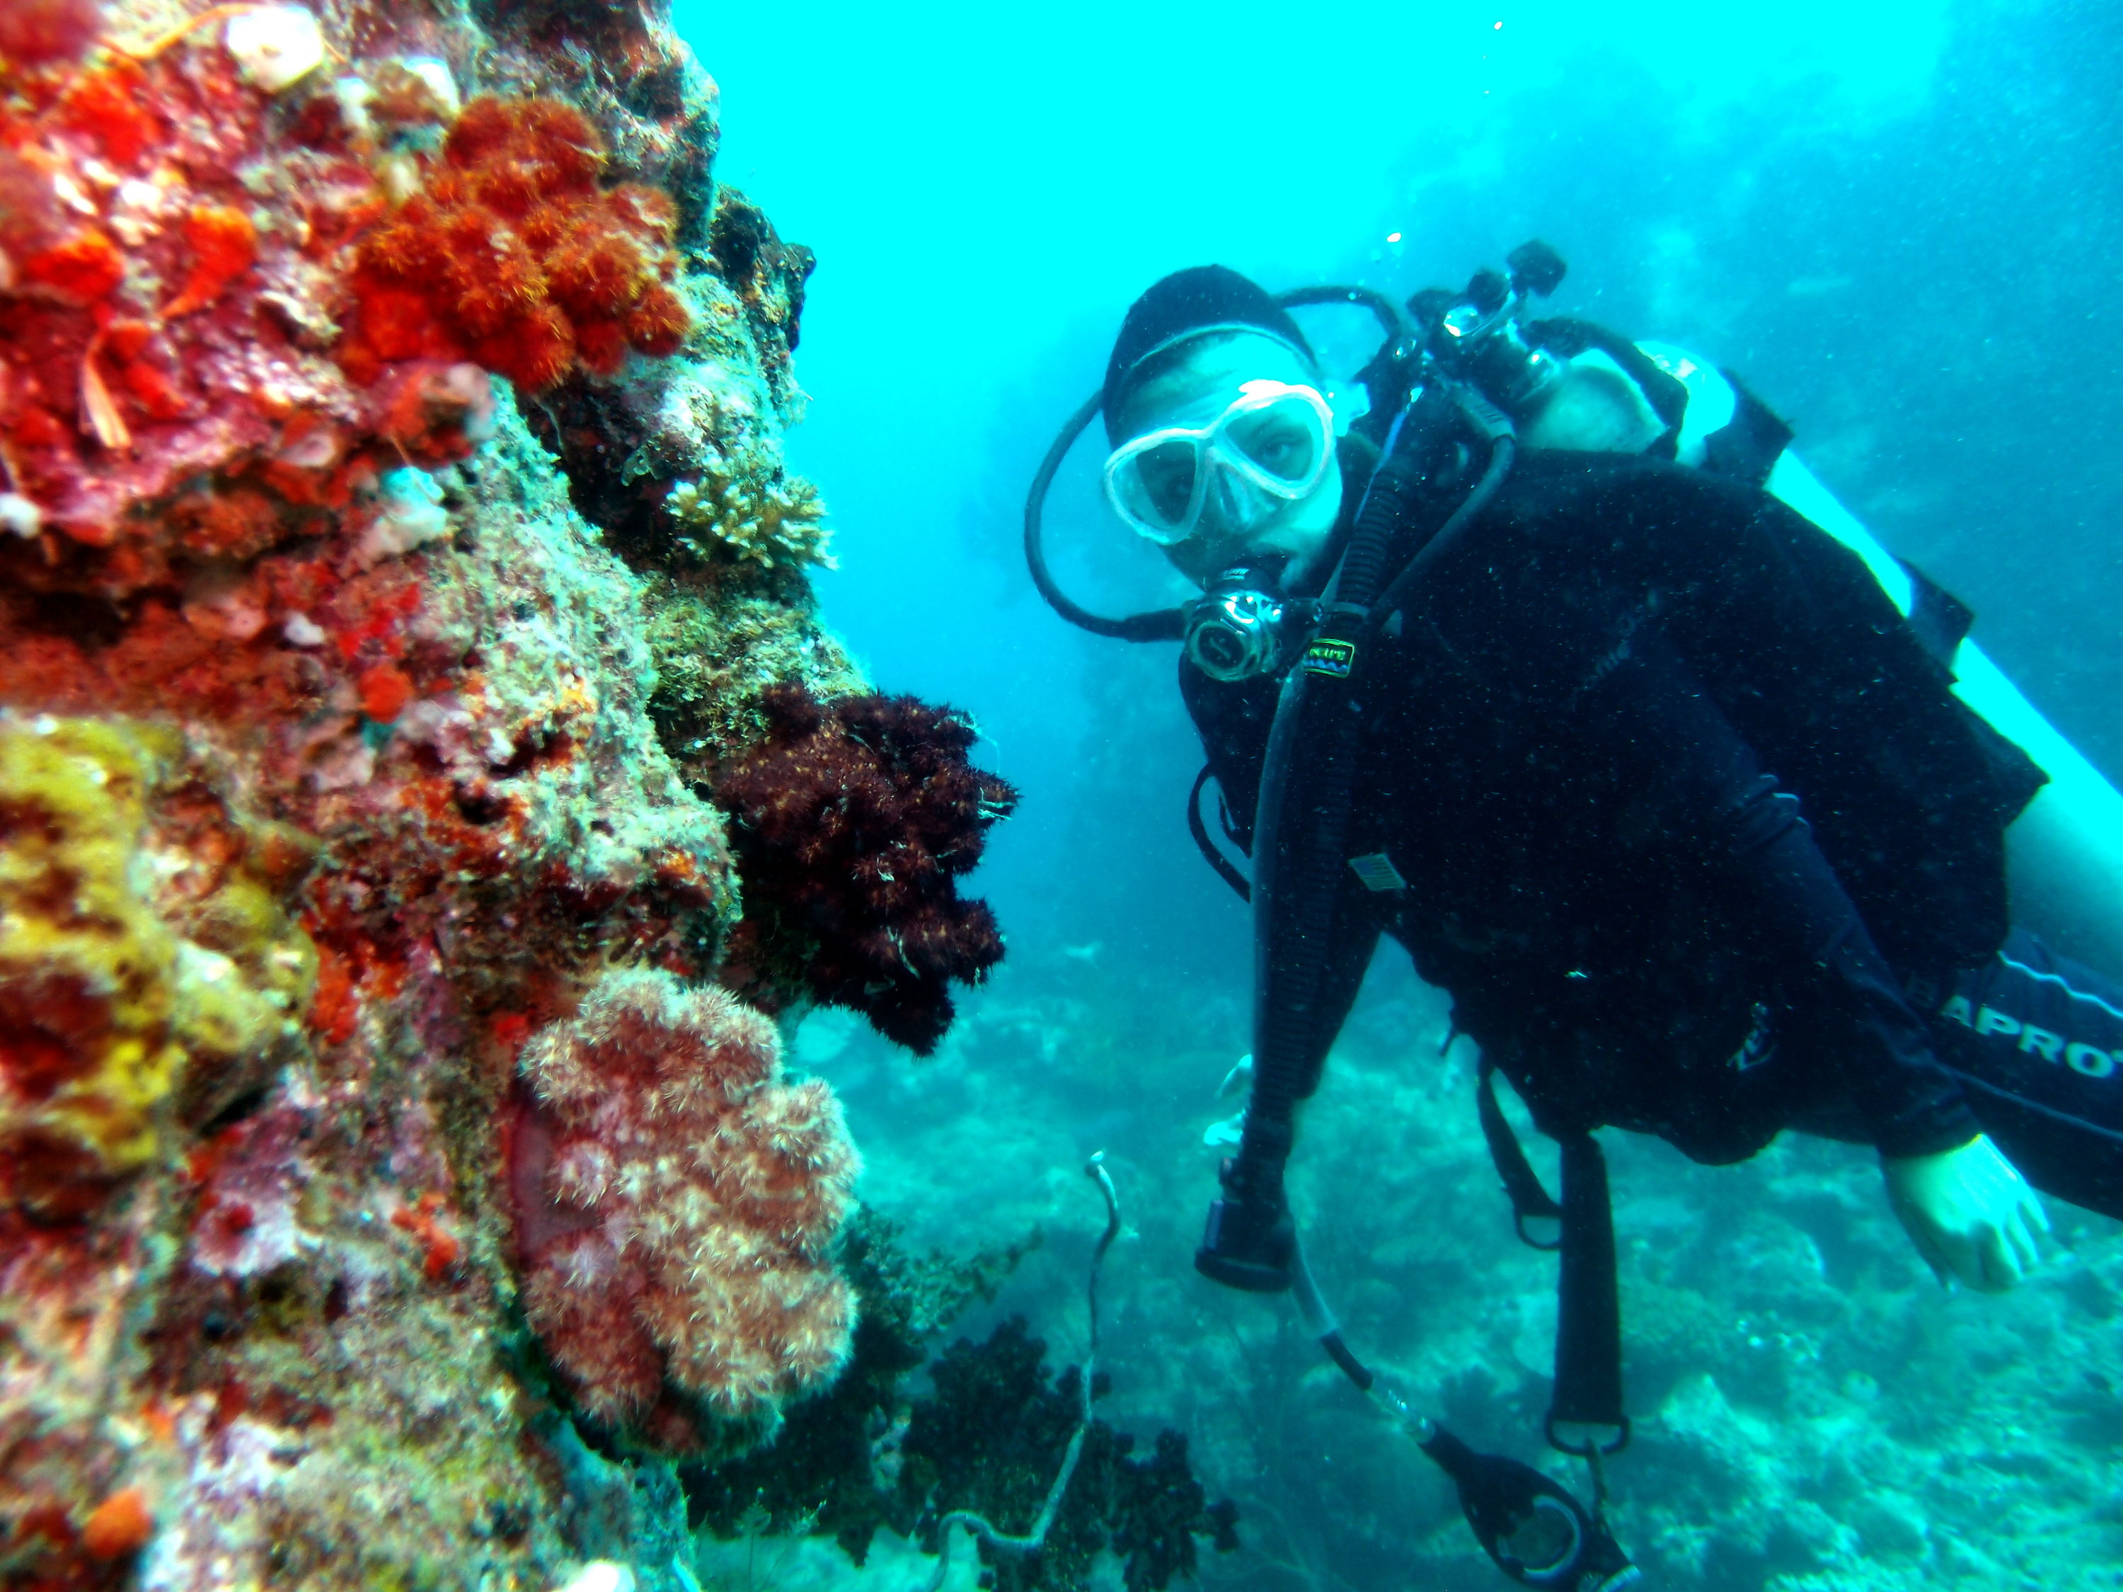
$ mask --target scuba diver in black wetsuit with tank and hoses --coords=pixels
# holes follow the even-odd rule
[[[1049,450],[1025,531],[1064,618],[1183,643],[1208,758],[1189,824],[1253,902],[1253,1087],[1197,1267],[1295,1291],[1376,1392],[1282,1176],[1391,936],[1480,1044],[1520,1235],[1560,1250],[1548,1437],[1599,1479],[1628,1420],[1594,1129],[1705,1163],[1783,1129],[1872,1144],[1921,1257],[1981,1291],[2038,1259],[2030,1178],[2123,1214],[2123,989],[2034,932],[2123,962],[2123,798],[1730,376],[1533,318],[1560,278],[1526,244],[1403,314],[1367,289],[1168,276]],[[1340,437],[1289,314],[1329,301],[1386,331]],[[1095,416],[1112,512],[1204,590],[1183,609],[1102,618],[1047,571],[1045,488]],[[1250,879],[1208,834],[1210,779]],[[1492,1072],[1558,1140],[1560,1201]],[[1599,1509],[1386,1407],[1507,1573],[1626,1579]],[[1543,1511],[1567,1543],[1529,1550]]]

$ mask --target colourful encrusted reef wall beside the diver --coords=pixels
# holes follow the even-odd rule
[[[868,683],[715,136],[658,0],[0,6],[0,1584],[548,1586],[675,1507],[577,1420],[845,1361],[709,792]]]

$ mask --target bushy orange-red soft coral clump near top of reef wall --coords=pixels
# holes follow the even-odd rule
[[[560,100],[473,100],[427,191],[363,238],[357,382],[399,359],[473,359],[527,393],[575,369],[614,376],[626,350],[673,354],[692,314],[667,287],[671,200],[599,187],[603,142]]]

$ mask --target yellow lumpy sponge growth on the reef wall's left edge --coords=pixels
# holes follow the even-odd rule
[[[174,730],[0,713],[0,1206],[81,1216],[263,1078],[316,974],[306,864]]]

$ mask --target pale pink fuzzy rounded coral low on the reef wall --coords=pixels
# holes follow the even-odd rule
[[[667,972],[609,972],[531,1038],[510,1144],[524,1314],[590,1416],[664,1446],[692,1409],[771,1409],[847,1359],[828,1259],[856,1148],[771,1021]]]

